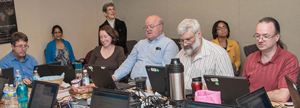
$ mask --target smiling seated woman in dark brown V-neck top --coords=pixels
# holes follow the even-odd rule
[[[118,32],[109,25],[99,31],[100,46],[96,46],[88,64],[106,66],[111,75],[125,61],[126,56],[121,46],[115,43],[119,39]]]

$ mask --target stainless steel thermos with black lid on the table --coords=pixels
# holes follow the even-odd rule
[[[170,81],[170,97],[172,100],[185,99],[183,65],[179,58],[173,58],[168,65],[169,81]]]

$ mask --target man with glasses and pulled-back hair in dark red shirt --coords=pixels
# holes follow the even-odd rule
[[[247,57],[243,77],[247,78],[250,92],[264,87],[271,101],[286,102],[290,93],[284,75],[297,82],[299,62],[283,49],[280,37],[280,26],[274,18],[259,21],[253,35],[259,51]]]

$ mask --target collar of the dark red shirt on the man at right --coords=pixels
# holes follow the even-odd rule
[[[282,52],[283,50],[284,50],[284,49],[282,49],[282,48],[280,47],[280,45],[277,44],[277,50],[276,50],[274,56],[272,57],[272,59],[271,59],[270,61],[266,62],[265,64],[263,64],[262,61],[261,61],[261,51],[259,50],[258,56],[256,56],[256,60],[255,60],[255,61],[256,61],[257,63],[263,64],[263,65],[267,65],[267,64],[269,64],[269,63],[277,63],[278,60],[279,60],[278,58],[280,58],[280,56],[282,56],[281,52]]]

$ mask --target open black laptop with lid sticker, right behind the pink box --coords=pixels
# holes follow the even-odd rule
[[[222,104],[235,105],[236,98],[250,93],[246,78],[204,75],[208,90],[221,91]]]

